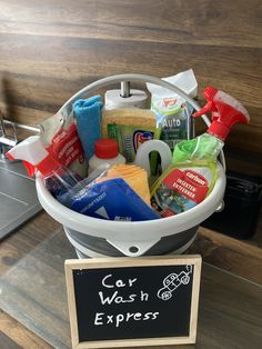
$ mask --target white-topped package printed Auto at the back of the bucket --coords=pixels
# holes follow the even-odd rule
[[[192,69],[163,80],[179,87],[192,98],[196,97],[198,83]],[[193,138],[192,106],[169,89],[152,83],[147,83],[147,87],[151,92],[151,110],[157,114],[157,127],[161,129],[160,140],[173,150],[179,141]]]

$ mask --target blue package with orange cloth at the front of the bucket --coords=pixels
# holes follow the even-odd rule
[[[59,201],[79,213],[108,220],[139,221],[159,219],[150,206],[147,172],[134,164],[97,168]]]

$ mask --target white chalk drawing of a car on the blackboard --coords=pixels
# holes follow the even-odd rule
[[[170,273],[163,280],[163,288],[158,291],[158,297],[162,300],[169,300],[172,297],[172,292],[181,285],[188,285],[190,282],[190,273],[192,272],[192,266],[185,267],[187,271],[181,271],[179,275],[175,272]]]

